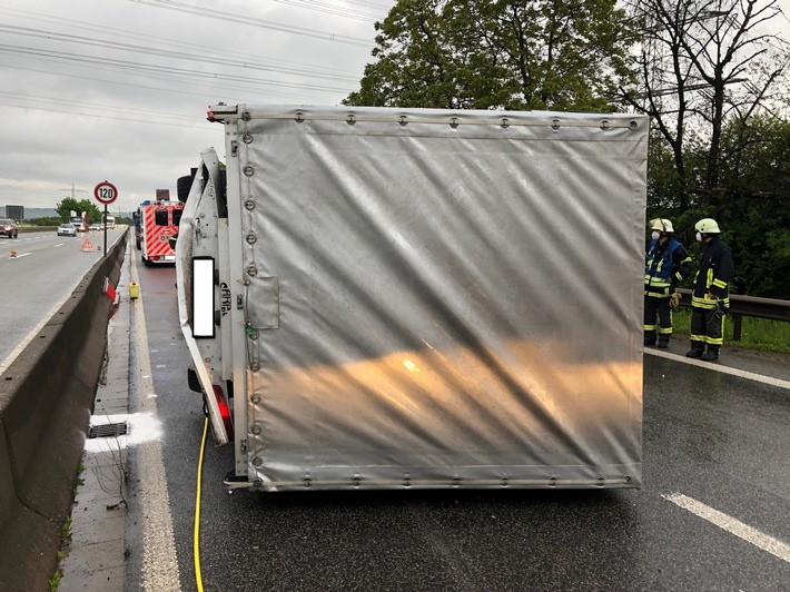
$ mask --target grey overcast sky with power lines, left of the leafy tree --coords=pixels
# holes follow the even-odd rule
[[[199,152],[219,101],[337,105],[394,0],[0,0],[0,206],[130,211]],[[98,205],[98,203],[97,203]]]

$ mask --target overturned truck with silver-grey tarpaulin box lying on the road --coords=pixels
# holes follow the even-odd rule
[[[177,250],[227,487],[639,487],[648,119],[217,105]]]

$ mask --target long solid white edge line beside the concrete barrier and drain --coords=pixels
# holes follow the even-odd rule
[[[134,253],[131,255],[130,272],[130,278],[139,282]],[[138,384],[138,393],[148,393],[150,395],[154,394],[154,377],[151,361],[148,355],[142,295],[138,296],[137,305],[134,307],[134,330],[137,335],[138,347],[138,367],[142,375]],[[138,410],[139,413],[149,416],[154,423],[159,422],[155,396],[140,396],[138,398]],[[138,450],[140,455],[139,497],[142,506],[142,588],[144,590],[156,592],[160,590],[181,590],[161,438],[144,442]]]

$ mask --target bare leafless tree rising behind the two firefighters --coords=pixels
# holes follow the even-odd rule
[[[722,151],[728,119],[748,126],[780,105],[787,88],[788,43],[766,32],[781,17],[778,0],[632,0],[630,11],[644,41],[640,81],[621,89],[623,100],[651,116],[671,150],[678,208],[715,209],[730,156]],[[702,168],[691,170],[690,134],[707,142]]]

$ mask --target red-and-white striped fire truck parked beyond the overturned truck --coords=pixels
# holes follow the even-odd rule
[[[137,248],[145,265],[175,263],[178,224],[184,204],[180,201],[149,201],[135,213]],[[137,230],[139,229],[139,233]]]

